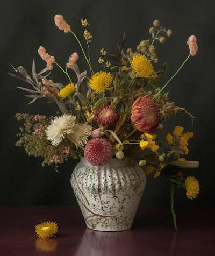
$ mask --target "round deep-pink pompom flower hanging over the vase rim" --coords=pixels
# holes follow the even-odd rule
[[[113,157],[112,144],[105,138],[90,139],[84,149],[84,157],[93,166],[103,166]]]

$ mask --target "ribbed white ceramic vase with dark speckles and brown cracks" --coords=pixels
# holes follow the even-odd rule
[[[124,159],[113,158],[96,167],[81,158],[71,175],[85,223],[98,231],[130,229],[145,186],[146,176],[138,163]]]

